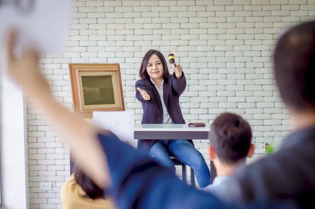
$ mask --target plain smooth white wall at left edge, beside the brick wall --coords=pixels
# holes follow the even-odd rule
[[[2,208],[27,209],[30,205],[26,99],[6,76],[5,69],[5,54],[0,52]]]

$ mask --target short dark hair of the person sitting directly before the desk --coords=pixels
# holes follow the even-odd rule
[[[233,164],[247,157],[252,131],[241,116],[223,113],[211,124],[209,139],[218,158],[226,164]]]

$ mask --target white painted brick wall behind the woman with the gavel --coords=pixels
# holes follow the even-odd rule
[[[264,142],[290,131],[272,75],[278,34],[313,19],[314,0],[75,1],[64,54],[45,54],[40,63],[54,96],[72,108],[68,63],[120,63],[127,109],[142,117],[135,99],[141,58],[149,49],[175,54],[187,88],[180,97],[186,122],[211,123],[230,111],[248,119],[255,156]],[[31,209],[62,208],[60,187],[69,176],[69,150],[36,106],[29,104]],[[209,163],[208,141],[195,140]],[[135,145],[135,142],[133,142]],[[53,182],[52,191],[39,182]]]

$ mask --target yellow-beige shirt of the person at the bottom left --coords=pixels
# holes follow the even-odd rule
[[[84,197],[85,192],[75,181],[74,174],[62,185],[60,190],[64,209],[115,209],[110,199],[96,199]]]

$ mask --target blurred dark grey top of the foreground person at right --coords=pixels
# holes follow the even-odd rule
[[[222,194],[244,204],[283,199],[296,208],[315,208],[314,139],[314,125],[292,132],[277,152],[238,169]]]

